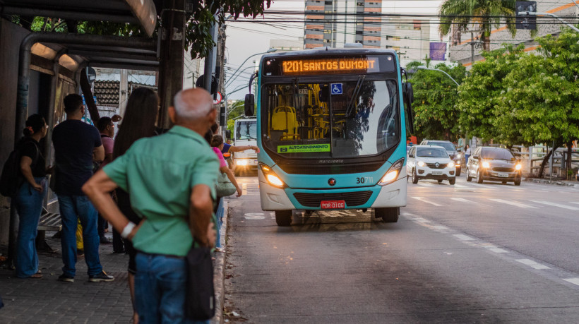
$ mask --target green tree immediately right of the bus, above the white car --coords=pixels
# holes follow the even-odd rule
[[[426,59],[426,66],[430,60]],[[423,65],[414,61],[407,69]],[[435,66],[445,71],[457,82],[465,78],[466,69],[459,65],[453,68],[445,64]],[[456,140],[460,135],[458,128],[457,85],[441,71],[417,69],[411,79],[414,89],[414,125],[420,138]]]

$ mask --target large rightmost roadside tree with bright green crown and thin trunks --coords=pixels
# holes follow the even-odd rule
[[[523,143],[554,143],[539,170],[556,148],[566,144],[568,167],[571,145],[579,138],[579,35],[565,30],[559,37],[536,39],[539,55],[521,56],[505,78],[507,91],[496,111],[502,131],[520,133]]]

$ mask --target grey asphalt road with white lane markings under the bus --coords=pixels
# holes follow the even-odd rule
[[[232,322],[579,323],[577,188],[409,182],[398,223],[321,212],[277,227],[257,178],[239,181]]]

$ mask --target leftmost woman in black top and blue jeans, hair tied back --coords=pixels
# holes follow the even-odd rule
[[[25,138],[18,143],[23,184],[18,188],[14,202],[20,217],[16,251],[16,277],[20,278],[42,278],[38,270],[35,241],[42,213],[42,200],[47,190],[46,162],[39,142],[46,136],[47,130],[46,121],[40,114],[30,115],[23,130]]]

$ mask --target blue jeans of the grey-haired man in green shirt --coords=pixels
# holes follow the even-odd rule
[[[139,323],[209,323],[185,318],[185,258],[137,252],[135,303]]]

